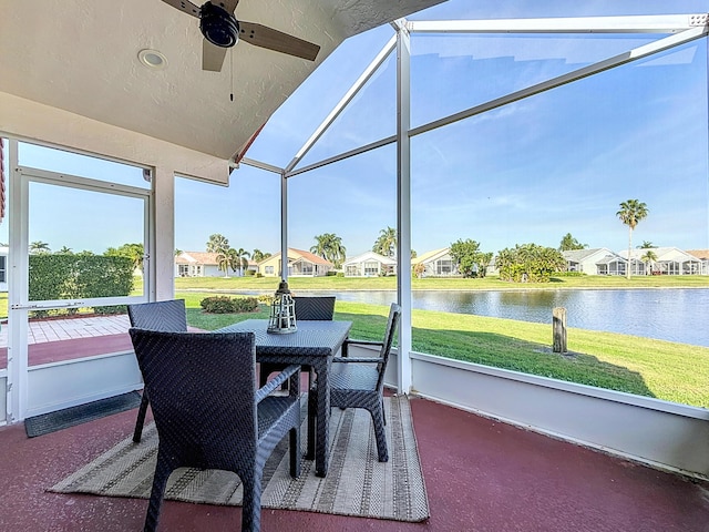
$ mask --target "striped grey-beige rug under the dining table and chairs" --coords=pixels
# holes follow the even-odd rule
[[[288,473],[288,438],[285,438],[266,464],[261,507],[397,521],[428,519],[429,502],[409,399],[387,397],[384,408],[388,462],[377,460],[369,412],[333,408],[327,477],[316,477],[315,462],[304,460],[300,477],[292,479]],[[306,427],[304,420],[304,452]],[[133,443],[132,436],[127,437],[49,491],[148,499],[156,454],[157,432],[155,424],[150,423],[141,443]],[[185,468],[171,475],[165,499],[238,505],[242,487],[235,473]]]

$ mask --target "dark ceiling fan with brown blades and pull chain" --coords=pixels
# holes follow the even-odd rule
[[[234,11],[239,0],[207,1],[197,7],[188,0],[163,0],[173,8],[199,19],[199,30],[204,35],[202,47],[202,70],[222,71],[227,48],[239,39],[255,47],[275,50],[296,58],[315,61],[320,47],[304,41],[273,28],[236,20]]]

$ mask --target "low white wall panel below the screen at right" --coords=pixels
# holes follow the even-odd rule
[[[392,354],[386,374],[386,382],[394,388],[397,356]],[[418,396],[709,480],[707,409],[432,355],[412,352],[411,358],[412,388]]]

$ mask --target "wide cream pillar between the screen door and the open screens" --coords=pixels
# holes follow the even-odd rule
[[[175,297],[175,174],[172,168],[158,166],[153,180],[147,296],[160,301]]]

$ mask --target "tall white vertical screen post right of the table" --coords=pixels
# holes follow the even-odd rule
[[[397,22],[397,296],[401,305],[399,392],[411,391],[411,38]]]

